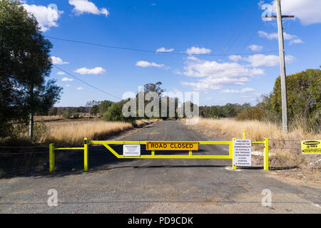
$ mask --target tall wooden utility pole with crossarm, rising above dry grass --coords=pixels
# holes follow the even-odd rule
[[[290,18],[294,16],[282,16],[281,11],[281,0],[276,0],[276,11],[277,16],[263,16],[268,18],[277,19],[277,31],[279,38],[279,53],[280,53],[280,72],[281,72],[281,98],[282,98],[282,130],[288,131],[288,120],[287,120],[287,76],[285,73],[285,49],[284,49],[284,36],[283,36],[283,24],[282,18]]]

